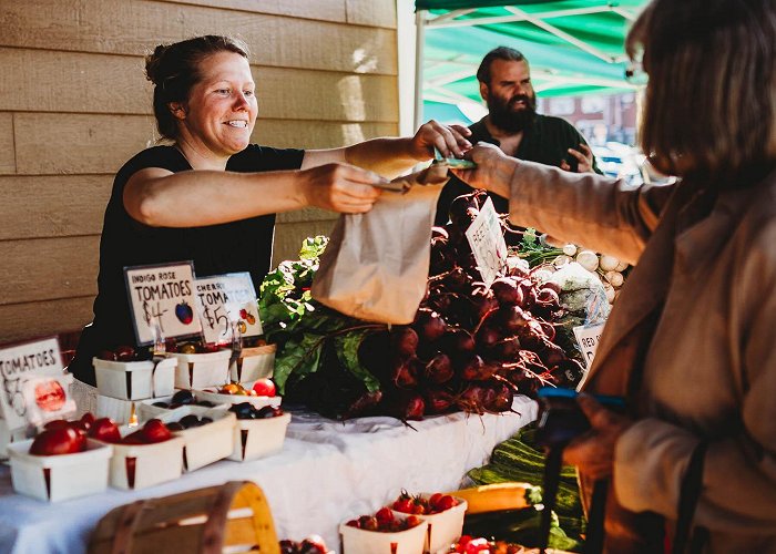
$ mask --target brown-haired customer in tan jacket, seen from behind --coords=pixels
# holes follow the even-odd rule
[[[459,175],[517,224],[636,263],[582,386],[630,417],[581,399],[592,430],[564,454],[611,478],[606,550],[662,552],[666,530],[674,552],[776,552],[776,3],[654,0],[627,48],[650,78],[642,147],[675,184],[492,146]]]

